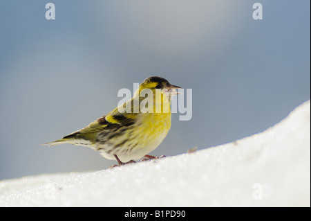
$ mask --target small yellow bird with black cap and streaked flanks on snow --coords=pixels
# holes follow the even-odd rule
[[[140,84],[131,100],[62,139],[43,145],[70,143],[100,151],[119,165],[148,155],[163,141],[171,127],[171,97],[181,88],[151,76]],[[147,96],[148,95],[148,96]]]

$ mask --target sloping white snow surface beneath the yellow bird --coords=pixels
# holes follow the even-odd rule
[[[3,180],[0,206],[310,206],[310,100],[265,132],[214,148]]]

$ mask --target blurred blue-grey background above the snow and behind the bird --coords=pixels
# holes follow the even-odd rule
[[[153,75],[192,89],[193,114],[173,114],[151,154],[261,132],[310,98],[310,1],[0,1],[0,179],[109,168],[115,161],[89,148],[40,144]]]

